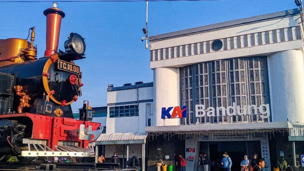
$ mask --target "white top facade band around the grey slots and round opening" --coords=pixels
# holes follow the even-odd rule
[[[243,56],[253,56],[253,55],[260,55],[260,56],[266,56],[270,53],[275,53],[278,51],[285,51],[290,49],[299,49],[302,48],[302,42],[301,40],[296,40],[296,28],[295,26],[298,26],[297,23],[299,19],[299,16],[290,16],[286,17],[284,19],[274,19],[259,23],[253,23],[253,24],[246,24],[243,26],[236,26],[236,27],[230,27],[220,30],[213,30],[206,33],[198,33],[194,35],[189,36],[183,36],[183,37],[176,37],[176,38],[170,38],[167,40],[157,40],[155,42],[150,42],[151,44],[151,51],[153,55],[153,61],[150,62],[150,68],[159,68],[159,67],[181,67],[185,65],[191,65],[194,63],[199,62],[205,62],[205,61],[212,61],[212,60],[219,60],[219,59],[228,59],[228,58],[237,58],[237,57],[243,57]],[[231,21],[233,23],[233,21]],[[292,35],[293,40],[287,39],[287,28],[292,28]],[[285,40],[280,40],[280,34],[279,29],[283,29],[285,34]],[[275,43],[272,40],[272,30],[277,31],[277,43]],[[270,37],[270,43],[265,43],[265,31],[269,32]],[[259,32],[262,32],[262,42],[263,45],[257,44],[257,35]],[[255,37],[255,45],[250,47],[250,34],[254,34]],[[244,46],[244,35],[248,36],[248,47]],[[229,39],[230,37],[233,37],[234,44],[236,44],[237,36],[241,37],[241,48],[233,48],[229,49],[230,43]],[[224,38],[228,38],[228,50],[223,50],[223,48],[219,51],[212,51],[212,48],[210,48],[210,53],[206,53],[206,41],[210,41],[210,44],[212,40],[220,39],[223,40]],[[186,56],[185,57],[178,57],[178,58],[171,58],[169,55],[169,59],[165,60],[155,60],[155,50],[160,51],[160,49],[168,48],[168,47],[177,47],[181,49],[182,45],[188,45],[194,43],[200,43],[204,42],[204,53],[203,54],[197,54]],[[187,47],[187,46],[186,46]],[[193,51],[194,47],[192,47]],[[186,48],[186,51],[187,48]],[[159,53],[158,53],[159,54]],[[171,54],[169,50],[169,54]],[[175,53],[176,54],[176,53]],[[159,56],[159,55],[158,55]],[[159,58],[159,57],[158,57]]]

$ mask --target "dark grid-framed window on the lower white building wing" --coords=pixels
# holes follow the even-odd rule
[[[131,117],[138,116],[138,105],[109,107],[109,117]]]

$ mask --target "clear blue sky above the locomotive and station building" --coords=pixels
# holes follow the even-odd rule
[[[3,0],[0,0],[0,2]],[[294,0],[149,2],[149,36],[296,8]],[[51,2],[0,3],[0,39],[26,38],[35,26],[38,57],[45,51],[46,17]],[[150,51],[141,42],[146,2],[58,2],[62,19],[59,48],[69,33],[85,38],[86,59],[75,61],[83,72],[82,94],[73,111],[89,100],[106,106],[107,85],[153,81]]]

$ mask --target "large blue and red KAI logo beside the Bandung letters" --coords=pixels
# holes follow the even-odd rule
[[[170,111],[172,109],[173,107],[168,107],[168,109],[165,107],[161,108],[161,119],[166,119],[166,116],[168,119],[174,119],[177,116],[178,118],[187,117],[187,106],[183,106],[182,110],[179,106],[175,106],[172,113],[170,114]]]

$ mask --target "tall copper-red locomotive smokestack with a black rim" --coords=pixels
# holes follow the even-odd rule
[[[48,8],[43,11],[43,14],[47,16],[47,37],[46,37],[46,50],[44,56],[51,56],[57,54],[61,19],[65,14],[59,8],[57,3],[53,3],[52,8]]]

